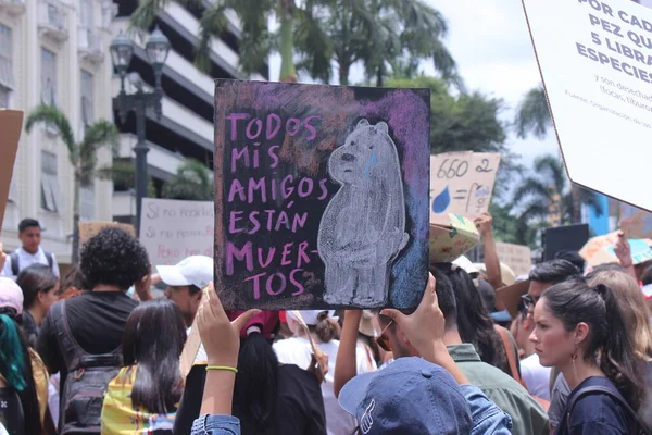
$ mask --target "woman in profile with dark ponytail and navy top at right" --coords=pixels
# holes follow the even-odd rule
[[[572,389],[557,434],[637,433],[645,364],[624,319],[614,290],[578,279],[550,287],[536,304],[535,351]]]

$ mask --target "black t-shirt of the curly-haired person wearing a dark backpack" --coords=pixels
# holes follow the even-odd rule
[[[137,306],[138,302],[123,291],[87,291],[65,300],[65,316],[82,349],[90,355],[102,355],[121,345],[127,318]],[[61,372],[60,391],[63,391],[67,370],[50,313],[41,324],[36,350],[50,373]]]

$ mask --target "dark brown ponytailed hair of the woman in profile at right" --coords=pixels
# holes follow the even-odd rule
[[[585,360],[599,365],[631,408],[638,409],[644,398],[647,371],[644,361],[636,356],[614,290],[574,279],[550,287],[541,298],[566,331],[581,322],[589,325]]]

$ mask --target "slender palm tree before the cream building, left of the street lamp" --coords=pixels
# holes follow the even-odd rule
[[[54,128],[68,150],[68,160],[73,166],[73,264],[79,260],[79,190],[88,186],[98,174],[98,150],[110,146],[117,152],[120,132],[113,123],[99,120],[89,125],[80,141],[75,140],[71,124],[63,112],[53,105],[39,105],[27,116],[25,130],[29,133],[35,124],[42,123]]]

